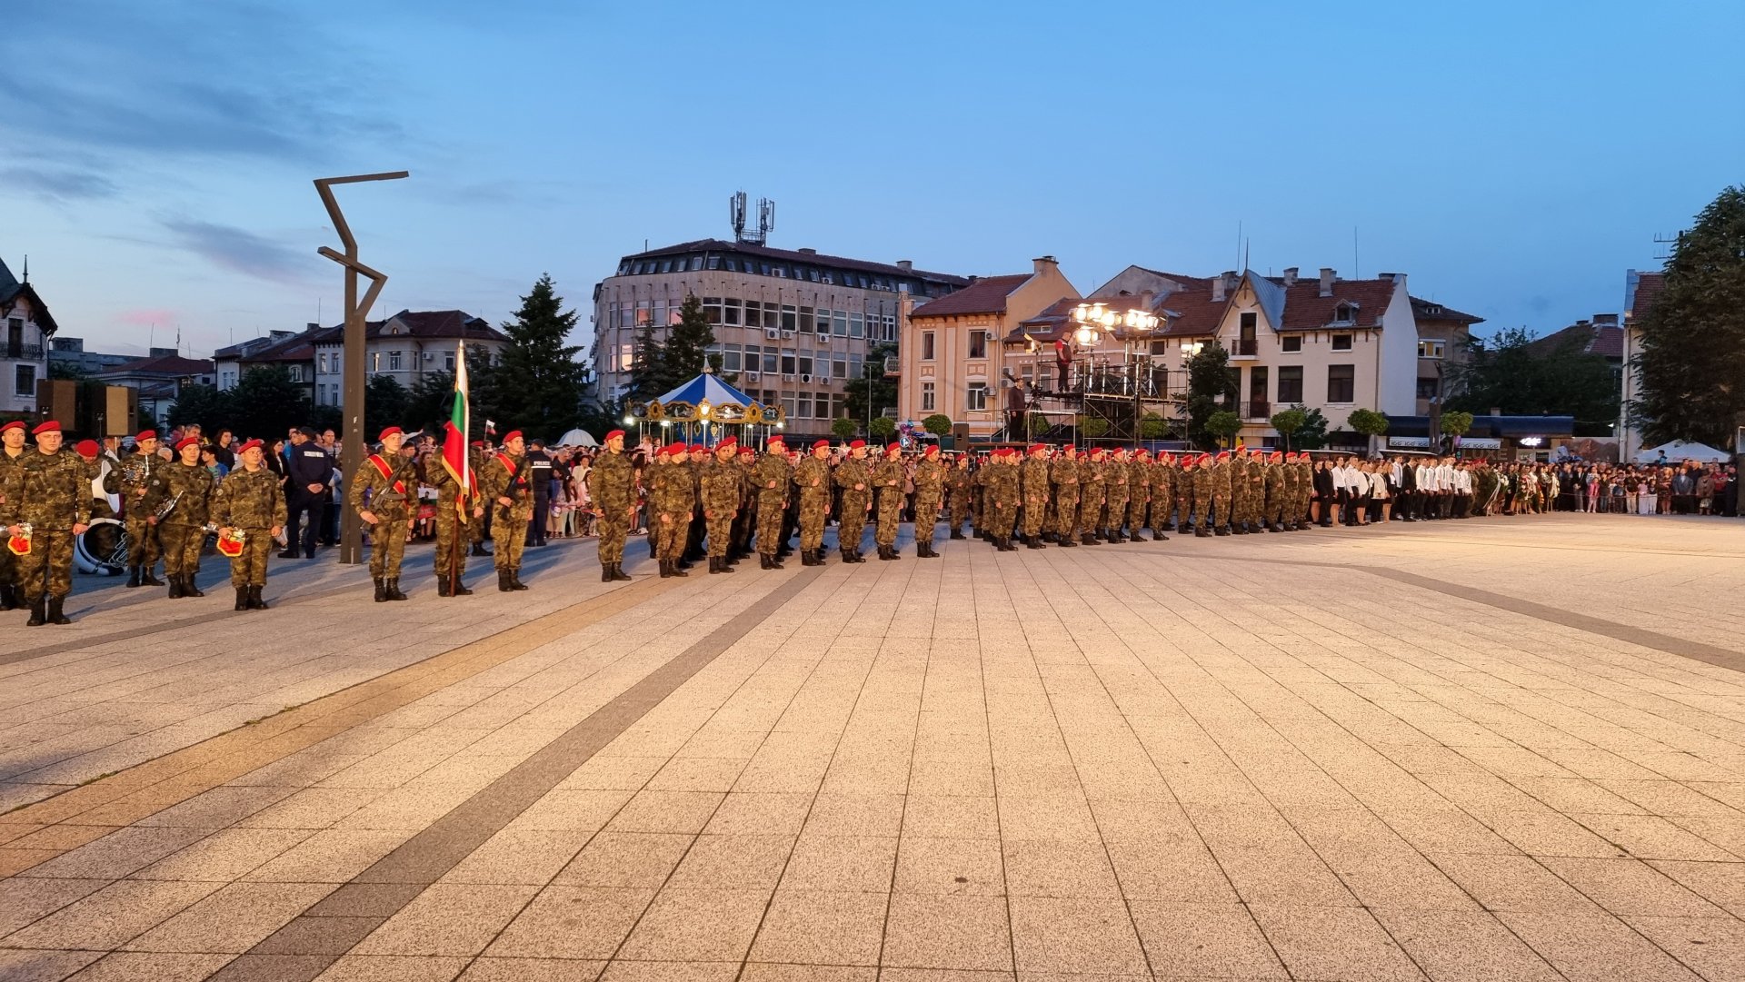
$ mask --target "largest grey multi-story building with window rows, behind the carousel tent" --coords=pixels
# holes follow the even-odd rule
[[[968,283],[907,260],[878,263],[749,241],[701,239],[623,256],[593,288],[597,398],[611,403],[626,394],[639,328],[665,338],[695,295],[715,333],[710,354],[721,356],[722,373],[757,401],[780,405],[790,431],[829,433],[831,419],[848,415],[848,380],[885,373],[883,365],[866,363],[867,354],[904,337],[911,307]]]

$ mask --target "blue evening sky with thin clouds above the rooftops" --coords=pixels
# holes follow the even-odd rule
[[[1401,270],[1550,331],[1745,180],[1745,3],[876,5],[12,0],[0,258],[63,333],[213,347],[333,323],[342,188],[377,314],[588,309],[644,241],[960,274],[1056,255]],[[1354,258],[1356,230],[1356,258]]]

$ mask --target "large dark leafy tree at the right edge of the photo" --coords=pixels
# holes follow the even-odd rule
[[[1745,412],[1745,187],[1724,188],[1666,260],[1666,288],[1642,316],[1632,415],[1649,445],[1728,447]]]

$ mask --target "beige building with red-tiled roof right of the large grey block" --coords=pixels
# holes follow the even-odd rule
[[[970,438],[1000,433],[1005,389],[1021,377],[1035,382],[1037,359],[1014,340],[1019,324],[1077,298],[1054,256],[1042,256],[1031,260],[1031,272],[974,279],[916,307],[899,354],[897,417],[944,413],[967,426]]]

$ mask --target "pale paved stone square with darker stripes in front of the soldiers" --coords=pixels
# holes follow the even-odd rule
[[[1745,979],[1745,525],[904,546],[80,579],[0,980]]]

